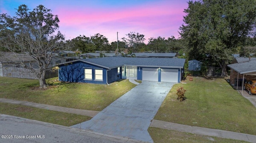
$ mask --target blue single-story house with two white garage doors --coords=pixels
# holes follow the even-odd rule
[[[109,84],[120,79],[180,82],[185,59],[104,57],[58,64],[59,80]]]

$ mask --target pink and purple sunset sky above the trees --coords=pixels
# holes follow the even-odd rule
[[[59,30],[72,39],[100,33],[109,43],[130,32],[150,37],[179,37],[188,0],[0,0],[0,13],[15,16],[15,8],[26,4],[31,10],[39,4],[60,19]]]

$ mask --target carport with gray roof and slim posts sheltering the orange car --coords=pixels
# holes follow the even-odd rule
[[[244,75],[251,75],[254,76],[256,79],[256,61],[248,61],[244,63],[235,63],[228,65],[231,70],[234,70],[237,72],[237,79],[239,77],[239,74],[243,75],[243,82],[242,82],[242,94],[243,94],[243,87],[244,87]],[[236,84],[236,90],[238,90],[238,80]]]

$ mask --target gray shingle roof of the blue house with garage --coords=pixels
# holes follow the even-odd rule
[[[173,58],[131,58],[131,57],[104,57],[94,59],[79,59],[75,61],[84,61],[93,65],[111,69],[122,65],[142,66],[142,67],[168,67],[168,68],[183,68],[185,59]],[[74,62],[74,61],[70,61]],[[66,63],[70,63],[66,62]],[[58,65],[63,65],[61,63]]]

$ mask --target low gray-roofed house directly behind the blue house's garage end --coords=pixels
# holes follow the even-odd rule
[[[177,53],[132,53],[135,57],[173,58]]]

